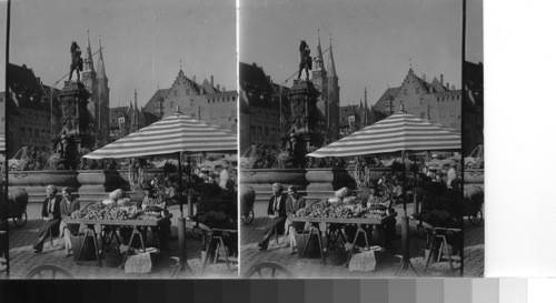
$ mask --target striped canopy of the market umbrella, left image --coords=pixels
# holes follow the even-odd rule
[[[85,158],[133,158],[177,152],[234,152],[237,149],[235,133],[177,113],[96,150]]]

